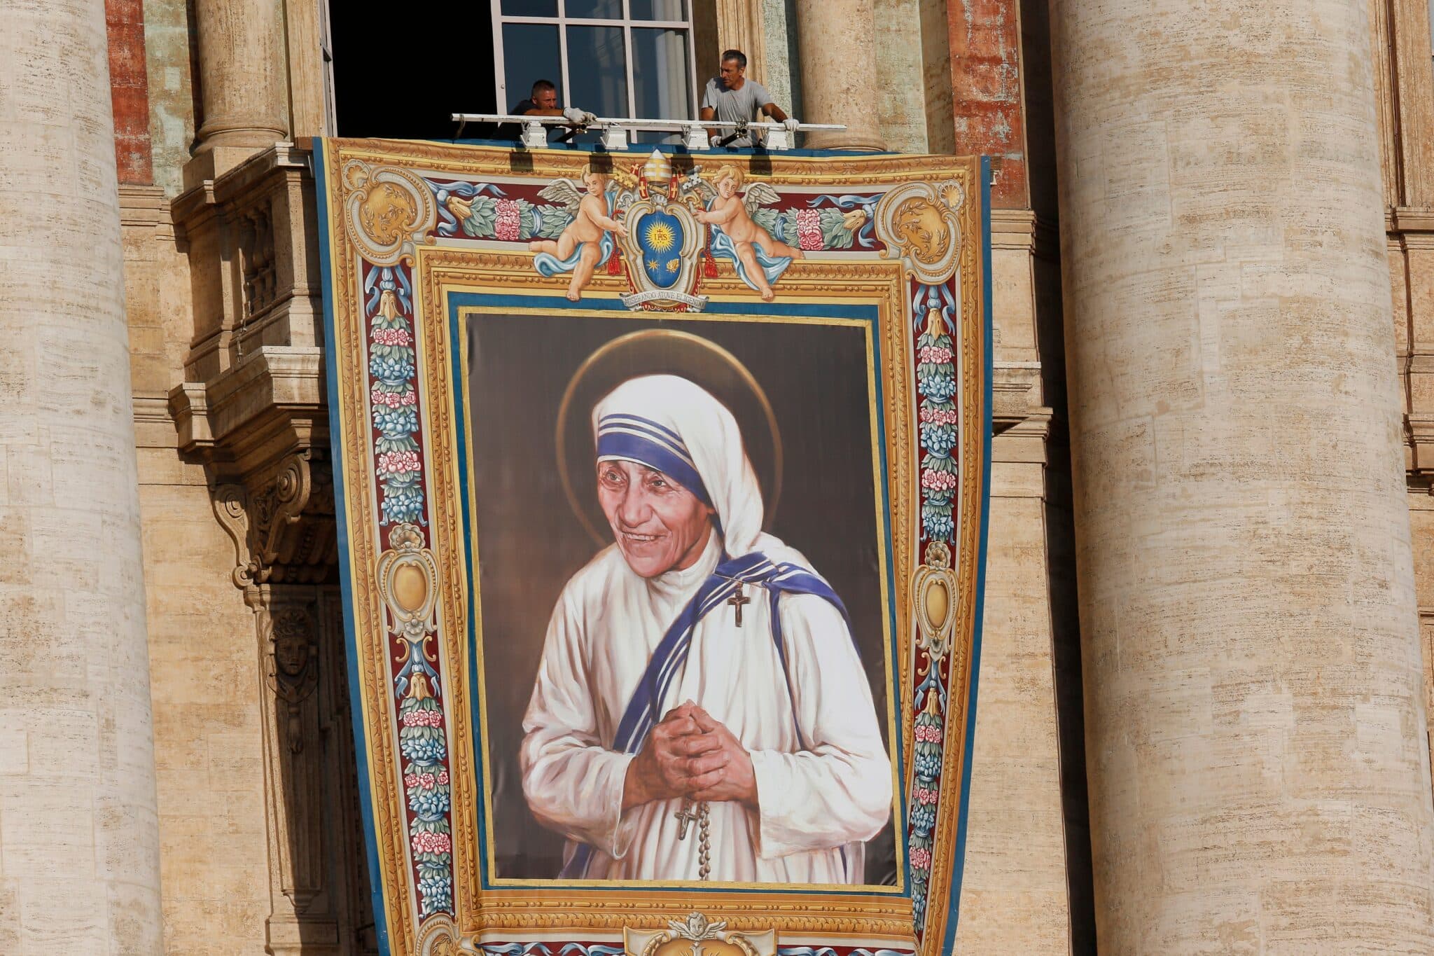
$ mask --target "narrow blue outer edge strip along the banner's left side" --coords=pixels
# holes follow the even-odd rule
[[[324,140],[314,138],[314,193],[318,199],[318,271],[324,294],[324,378],[328,380],[328,441],[341,436],[338,423],[338,367],[330,360],[337,355],[334,347],[334,285],[330,269],[328,248],[328,183],[324,169]],[[358,639],[350,608],[353,602],[353,580],[348,575],[348,512],[344,507],[343,456],[328,456],[334,473],[334,519],[338,529],[338,586],[343,599],[340,612],[344,619],[344,656],[348,658],[348,709],[354,730],[354,761],[358,765],[358,811],[363,814],[363,841],[369,850],[369,896],[373,900],[373,929],[379,940],[379,952],[389,956],[389,914],[383,907],[383,879],[379,874],[379,837],[373,826],[373,794],[369,788],[369,747],[363,734],[363,699],[358,694]]]

